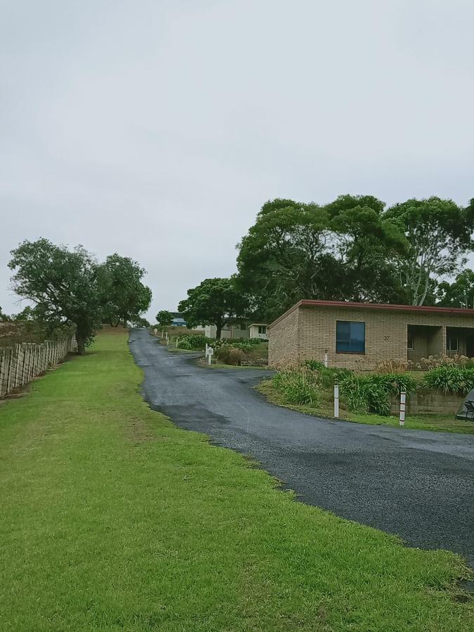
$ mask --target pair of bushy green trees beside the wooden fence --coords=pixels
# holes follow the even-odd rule
[[[74,325],[80,355],[102,322],[145,322],[151,291],[140,280],[145,270],[130,258],[113,254],[99,264],[83,246],[70,250],[41,238],[12,250],[8,266],[16,294],[34,303],[18,318],[48,331]]]

